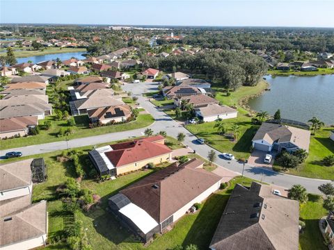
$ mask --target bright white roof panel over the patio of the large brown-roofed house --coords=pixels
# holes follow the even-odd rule
[[[127,206],[120,208],[119,212],[131,219],[145,234],[159,225],[145,210],[134,203],[129,203]]]

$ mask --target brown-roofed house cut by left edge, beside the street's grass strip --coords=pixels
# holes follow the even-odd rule
[[[38,125],[38,117],[9,117],[0,119],[0,138],[29,135],[31,128]]]

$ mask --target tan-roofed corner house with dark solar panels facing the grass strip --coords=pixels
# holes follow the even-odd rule
[[[87,111],[90,123],[109,124],[125,122],[132,115],[131,107],[127,104],[105,108],[95,108]]]

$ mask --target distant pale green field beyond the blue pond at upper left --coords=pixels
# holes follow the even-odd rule
[[[19,49],[19,48],[17,48]],[[22,48],[20,48],[22,49]],[[14,51],[14,55],[17,58],[24,58],[24,57],[29,57],[29,56],[44,56],[47,54],[55,54],[55,53],[70,53],[70,52],[79,52],[83,51],[86,52],[86,49],[80,48],[56,48],[56,47],[51,47],[51,48],[46,48],[43,51],[35,51],[32,50],[32,48],[23,48],[24,50],[22,51]],[[6,53],[0,53],[0,56],[5,56]]]

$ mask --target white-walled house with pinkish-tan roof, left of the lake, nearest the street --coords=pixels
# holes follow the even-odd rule
[[[229,106],[220,106],[216,103],[210,103],[206,106],[200,106],[195,109],[196,117],[203,122],[214,122],[217,119],[236,118],[238,111]]]

